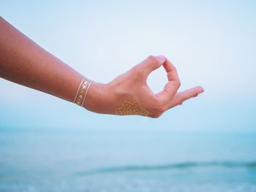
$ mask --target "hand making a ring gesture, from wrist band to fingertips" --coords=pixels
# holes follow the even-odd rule
[[[163,91],[155,94],[146,80],[160,66],[164,66],[168,82]],[[166,110],[203,92],[200,86],[177,92],[180,85],[175,66],[165,56],[151,55],[107,84],[92,82],[83,107],[98,113],[158,118]]]

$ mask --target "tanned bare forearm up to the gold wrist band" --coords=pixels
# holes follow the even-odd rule
[[[0,18],[0,77],[49,93],[75,99],[83,75],[72,69]]]

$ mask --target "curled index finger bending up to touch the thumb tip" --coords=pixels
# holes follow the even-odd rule
[[[181,86],[181,81],[178,77],[176,67],[169,60],[166,59],[163,66],[167,72],[168,82],[165,84],[164,90],[158,93],[158,96],[164,101],[170,101]]]

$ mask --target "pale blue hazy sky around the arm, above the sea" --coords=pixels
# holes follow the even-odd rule
[[[0,128],[255,131],[255,9],[255,1],[1,1],[1,17],[91,80],[165,55],[180,91],[205,92],[157,119],[119,117],[0,79]],[[148,78],[155,92],[166,81],[164,69]]]

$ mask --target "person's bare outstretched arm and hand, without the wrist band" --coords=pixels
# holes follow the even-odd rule
[[[3,18],[0,18],[0,28],[0,77],[74,101],[82,74],[43,50]],[[160,66],[164,66],[168,82],[163,91],[154,94],[146,80]],[[157,118],[203,92],[199,86],[177,92],[180,85],[176,68],[167,58],[149,56],[107,84],[92,82],[83,107],[104,114]]]

